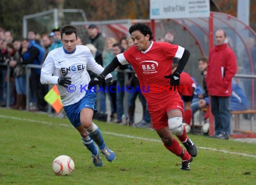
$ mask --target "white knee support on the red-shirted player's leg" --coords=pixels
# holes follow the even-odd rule
[[[182,126],[182,117],[177,116],[168,119],[168,125],[172,134],[180,136],[183,134],[184,128]]]

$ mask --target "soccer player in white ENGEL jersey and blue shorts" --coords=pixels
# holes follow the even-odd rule
[[[91,152],[93,164],[102,167],[100,152],[109,162],[115,159],[115,153],[106,146],[99,128],[92,122],[97,95],[93,90],[88,90],[86,84],[90,77],[86,69],[101,74],[104,68],[95,62],[87,46],[76,45],[78,37],[75,26],[62,26],[61,38],[63,47],[49,52],[41,70],[40,81],[42,84],[57,85],[68,119]],[[112,75],[106,75],[105,79],[106,84],[111,85]]]

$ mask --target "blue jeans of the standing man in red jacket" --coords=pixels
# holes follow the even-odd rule
[[[230,97],[211,96],[211,108],[214,115],[215,135],[225,132],[230,135]]]

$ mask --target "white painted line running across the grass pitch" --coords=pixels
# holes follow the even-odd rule
[[[46,122],[46,121],[38,121],[38,120],[34,120],[34,119],[17,118],[17,117],[14,117],[14,116],[5,116],[5,115],[0,115],[0,117],[8,118],[8,119],[15,119],[15,120],[28,121],[28,122],[34,122],[34,123],[42,123],[42,124],[48,124],[48,125],[59,125],[59,126],[62,126],[62,127],[64,126],[64,127],[74,128],[71,125],[62,124],[62,123],[54,124],[54,123]],[[128,138],[132,138],[132,139],[141,139],[141,140],[144,140],[144,141],[162,142],[162,141],[157,140],[157,139],[149,139],[149,138],[145,138],[145,137],[136,137],[136,136],[130,136],[130,135],[126,135],[126,134],[117,134],[117,133],[113,133],[113,132],[103,132],[102,131],[102,133],[109,134],[109,135],[114,135],[114,136],[119,136],[119,137],[128,137]],[[212,151],[223,152],[225,154],[243,155],[243,156],[246,156],[246,157],[256,158],[256,155],[250,155],[250,154],[244,154],[244,153],[238,153],[238,152],[230,152],[230,151],[226,151],[226,150],[219,150],[219,149],[207,148],[207,147],[202,147],[202,146],[198,146],[197,148],[203,149],[203,150],[212,150]]]

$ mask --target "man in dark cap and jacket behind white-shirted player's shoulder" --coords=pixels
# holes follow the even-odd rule
[[[105,46],[105,39],[95,24],[88,26],[89,43],[93,44],[101,53]]]

